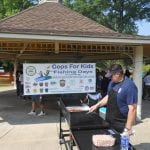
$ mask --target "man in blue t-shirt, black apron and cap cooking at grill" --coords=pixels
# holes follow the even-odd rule
[[[113,64],[108,69],[107,78],[111,78],[107,95],[90,108],[90,112],[107,105],[106,120],[118,132],[132,133],[136,119],[137,87],[123,73],[122,66]]]

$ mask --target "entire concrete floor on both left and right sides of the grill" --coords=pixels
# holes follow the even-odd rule
[[[150,150],[150,101],[142,107],[131,142],[137,150]],[[57,97],[48,98],[46,116],[29,116],[30,109],[31,101],[17,98],[14,90],[0,92],[0,150],[65,150],[59,145]]]

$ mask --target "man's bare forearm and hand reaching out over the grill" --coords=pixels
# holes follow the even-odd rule
[[[100,100],[97,104],[90,107],[89,112],[95,111],[98,107],[105,106],[108,102],[108,95],[106,95],[102,100]]]

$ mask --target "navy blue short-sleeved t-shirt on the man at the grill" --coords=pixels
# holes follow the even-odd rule
[[[117,94],[117,104],[120,112],[127,116],[128,105],[137,104],[138,100],[138,90],[136,85],[128,77],[125,77],[123,84],[110,82],[108,86],[108,92],[113,88],[118,91]],[[120,87],[121,86],[121,87]]]

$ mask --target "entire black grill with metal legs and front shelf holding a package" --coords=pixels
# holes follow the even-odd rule
[[[65,144],[66,150],[73,150],[74,144],[79,150],[120,150],[120,135],[113,129],[111,131],[114,132],[113,136],[116,138],[114,146],[103,148],[92,144],[92,135],[112,133],[109,132],[109,124],[97,113],[68,111],[68,106],[82,106],[79,97],[65,96],[59,100],[58,104],[60,107],[60,144]],[[66,119],[69,130],[62,129],[62,117]],[[66,136],[70,138],[69,142],[65,141]],[[131,149],[134,148],[131,146]]]

